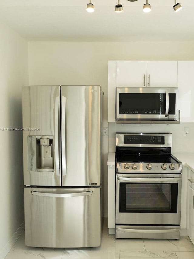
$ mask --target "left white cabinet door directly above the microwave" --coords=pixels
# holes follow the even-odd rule
[[[147,61],[117,61],[117,87],[144,87],[146,86]]]

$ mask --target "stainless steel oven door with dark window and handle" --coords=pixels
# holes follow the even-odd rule
[[[181,174],[116,174],[116,224],[180,224]]]

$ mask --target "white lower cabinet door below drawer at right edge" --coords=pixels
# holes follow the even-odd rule
[[[189,237],[194,244],[194,189],[189,186]]]

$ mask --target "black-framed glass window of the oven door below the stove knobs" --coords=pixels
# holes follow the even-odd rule
[[[120,183],[119,212],[177,213],[178,183]]]

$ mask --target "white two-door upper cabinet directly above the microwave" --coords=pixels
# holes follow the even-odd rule
[[[117,87],[177,87],[177,61],[117,61]]]

